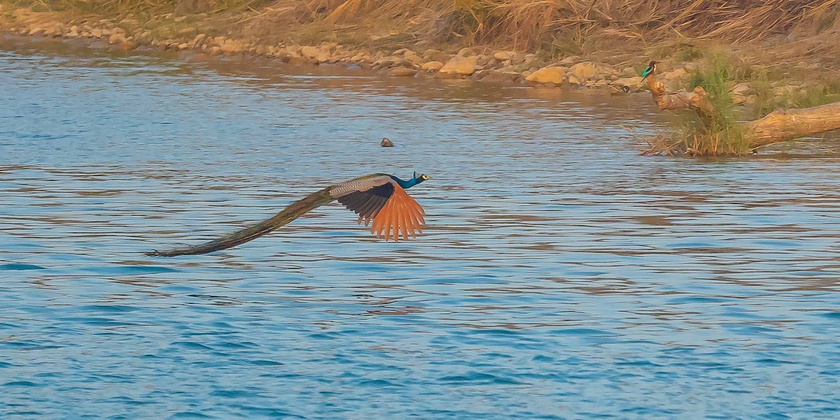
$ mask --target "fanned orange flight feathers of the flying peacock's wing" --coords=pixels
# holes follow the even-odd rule
[[[370,233],[385,240],[392,237],[395,242],[399,241],[401,234],[403,239],[408,239],[409,235],[417,237],[418,231],[423,234],[423,224],[426,223],[424,213],[423,207],[402,186],[395,185],[391,198],[373,218]]]

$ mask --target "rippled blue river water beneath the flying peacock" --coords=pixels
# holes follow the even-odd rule
[[[4,39],[0,89],[0,417],[840,416],[840,159],[641,157],[645,95],[60,42]],[[417,240],[330,205],[140,254],[415,170]]]

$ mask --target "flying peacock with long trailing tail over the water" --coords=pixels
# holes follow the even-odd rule
[[[215,239],[203,244],[159,251],[157,249],[144,253],[150,256],[174,257],[177,255],[200,255],[221,249],[228,249],[244,244],[262,235],[300,218],[317,207],[338,200],[339,203],[355,212],[359,218],[357,223],[370,224],[370,233],[379,238],[399,241],[409,236],[417,238],[417,233],[423,234],[426,214],[423,207],[410,197],[406,190],[412,186],[432,179],[423,174],[417,176],[414,172],[411,179],[403,181],[388,174],[369,174],[327,186],[318,192],[312,192],[297,202],[292,202],[274,217],[255,223],[233,234]]]

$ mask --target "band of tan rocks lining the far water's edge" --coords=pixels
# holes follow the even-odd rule
[[[211,34],[204,27],[206,15],[176,16],[172,13],[138,18],[72,18],[57,12],[34,12],[29,8],[4,10],[0,4],[0,31],[24,36],[87,40],[110,50],[130,52],[137,49],[193,51],[204,55],[253,55],[291,65],[334,64],[360,66],[389,77],[438,77],[470,79],[502,86],[591,87],[610,89],[614,94],[642,92],[648,89],[638,68],[614,66],[571,55],[545,62],[540,56],[513,50],[486,47],[462,48],[457,52],[434,48],[399,48],[365,50],[360,47],[321,43],[318,45],[268,45],[253,37]],[[161,30],[164,28],[165,30]],[[418,43],[419,44],[419,43]],[[669,92],[685,90],[690,71],[700,68],[697,61],[659,61],[657,79]],[[619,68],[622,67],[622,68]],[[801,85],[801,84],[800,84]],[[777,95],[797,88],[779,87]],[[751,103],[748,83],[730,89],[736,104]]]

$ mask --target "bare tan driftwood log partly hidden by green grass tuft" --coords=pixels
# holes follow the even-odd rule
[[[653,75],[648,76],[648,87],[659,109],[694,109],[706,115],[714,110],[702,87],[695,87],[694,92],[666,92],[664,84]],[[813,108],[780,108],[764,118],[740,125],[750,150],[756,150],[769,144],[840,129],[840,102]]]

